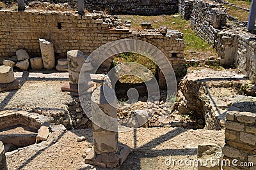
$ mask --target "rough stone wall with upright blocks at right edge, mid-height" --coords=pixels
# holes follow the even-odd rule
[[[234,65],[256,83],[256,36],[248,32],[221,31],[216,49],[221,64]]]

